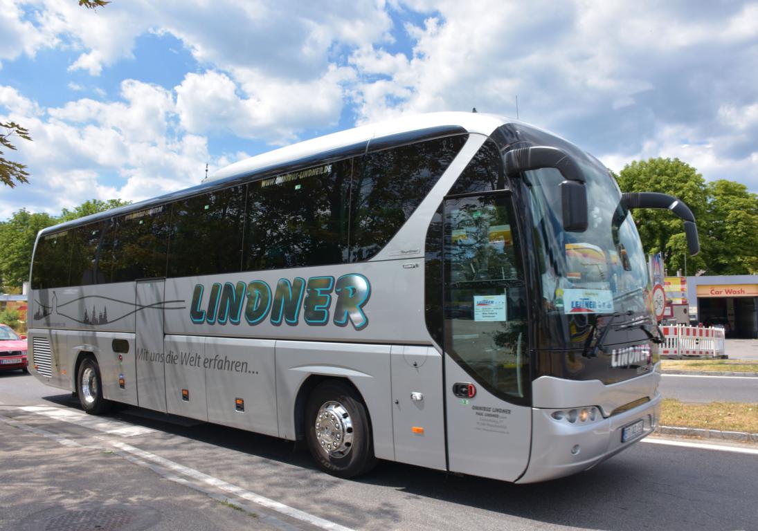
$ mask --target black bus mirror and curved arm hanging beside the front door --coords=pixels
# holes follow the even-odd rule
[[[553,167],[565,179],[560,184],[563,229],[572,232],[587,230],[587,190],[584,175],[565,151],[546,145],[512,149],[506,153],[506,173],[518,175],[523,171]]]

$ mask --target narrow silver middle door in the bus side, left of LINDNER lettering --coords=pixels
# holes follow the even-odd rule
[[[166,380],[163,345],[164,283],[136,283],[137,402],[140,408],[166,412]]]

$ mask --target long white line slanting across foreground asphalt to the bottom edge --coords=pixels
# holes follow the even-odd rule
[[[184,476],[189,476],[192,479],[196,479],[201,483],[216,487],[217,489],[230,492],[239,498],[252,501],[253,503],[261,505],[262,507],[273,509],[274,511],[277,511],[281,514],[286,514],[288,517],[296,518],[302,522],[310,523],[313,526],[320,527],[321,529],[330,529],[333,531],[351,531],[349,527],[340,526],[338,523],[330,522],[329,520],[324,520],[324,518],[319,518],[312,514],[306,513],[305,511],[300,511],[299,509],[292,508],[289,505],[280,503],[279,501],[274,501],[271,498],[266,498],[265,496],[256,494],[255,492],[251,492],[249,490],[243,489],[242,487],[227,483],[223,479],[208,476],[208,474],[202,473],[199,470],[185,467],[181,464],[175,463],[174,461],[169,461],[166,458],[161,458],[159,455],[151,454],[149,451],[140,450],[139,448],[124,444],[123,442],[111,441],[110,443],[115,448],[136,455],[140,459],[160,464],[163,467],[174,470],[174,472],[181,473]]]

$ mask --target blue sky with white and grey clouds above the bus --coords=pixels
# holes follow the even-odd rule
[[[138,201],[406,114],[490,112],[612,170],[679,158],[758,192],[758,2],[0,0],[0,220]],[[518,111],[516,101],[518,98]]]

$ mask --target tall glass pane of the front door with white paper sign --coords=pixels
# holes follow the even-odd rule
[[[446,351],[490,392],[523,401],[527,294],[515,208],[500,194],[450,198],[444,208]]]

